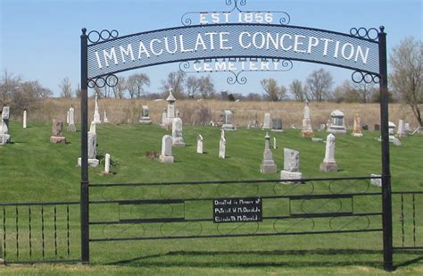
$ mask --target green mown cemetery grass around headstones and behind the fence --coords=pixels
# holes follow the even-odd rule
[[[40,201],[78,201],[80,169],[76,165],[80,156],[78,133],[64,135],[68,140],[66,145],[49,143],[50,123],[31,123],[29,129],[21,129],[21,123],[12,122],[11,134],[13,144],[0,146],[0,187],[1,202],[40,202]],[[271,132],[271,137],[277,138],[278,149],[272,150],[273,158],[278,164],[278,171],[283,167],[283,148],[289,147],[301,152],[301,167],[303,178],[319,177],[350,177],[369,176],[370,173],[380,173],[381,155],[380,143],[377,142],[377,132],[364,131],[364,137],[353,138],[351,135],[336,136],[336,163],[339,171],[320,172],[319,163],[322,162],[325,144],[313,143],[310,139],[300,138],[300,130],[285,130],[283,133]],[[261,174],[259,171],[262,150],[264,146],[263,130],[245,130],[227,132],[227,159],[218,158],[220,130],[211,127],[185,126],[184,139],[186,147],[173,148],[175,163],[160,163],[156,159],[146,157],[147,151],[160,154],[162,136],[168,131],[158,126],[140,125],[101,125],[97,126],[97,153],[102,156],[99,168],[89,169],[91,183],[139,183],[162,181],[195,181],[195,180],[276,180],[278,173]],[[202,134],[206,154],[196,154],[196,137]],[[326,138],[326,133],[316,132],[316,137]],[[422,137],[402,139],[402,146],[391,146],[392,188],[394,191],[422,190],[423,155]],[[103,175],[104,154],[112,155],[112,174]],[[331,188],[336,191],[378,191],[378,188],[367,185],[336,185]],[[193,198],[198,197],[247,197],[282,195],[284,193],[307,193],[310,186],[292,186],[283,184],[263,183],[260,185],[230,185],[230,186],[177,186],[172,188],[91,188],[91,199],[151,199],[153,198]],[[328,193],[328,185],[314,183],[315,192]],[[411,197],[405,197],[404,213],[411,213]],[[416,197],[417,206],[417,237],[423,242],[423,213],[421,206],[423,198]],[[401,245],[401,229],[399,228],[401,208],[399,197],[394,197],[394,244]],[[304,205],[303,208],[312,212],[319,206],[320,211],[338,210],[337,202],[317,202],[314,205]],[[268,200],[263,203],[264,215],[287,214],[287,201]],[[292,205],[293,212],[300,212],[300,205]],[[342,202],[341,210],[348,211],[348,204]],[[15,209],[7,210],[7,232],[14,233],[15,224],[11,223]],[[187,218],[210,217],[210,202],[188,202],[184,208]],[[91,205],[91,221],[117,220],[121,217],[175,217],[183,215],[180,206],[150,206],[149,209],[132,206],[128,209],[116,208],[116,205]],[[354,212],[379,212],[379,197],[354,197]],[[34,237],[40,239],[39,210],[33,211]],[[60,215],[64,209],[58,208]],[[19,208],[20,229],[28,227],[28,210]],[[53,227],[53,209],[46,210],[46,227]],[[58,216],[59,225],[65,221]],[[71,206],[71,257],[78,257],[79,253],[79,209]],[[283,223],[262,222],[260,230],[284,230],[290,227]],[[307,230],[311,222],[298,220],[294,223],[294,230]],[[343,226],[349,222],[336,221]],[[348,227],[359,228],[361,223],[355,221]],[[371,227],[380,227],[380,219],[371,218]],[[411,216],[404,215],[406,234],[410,234]],[[0,223],[1,225],[1,223]],[[233,226],[232,226],[233,225]],[[159,224],[126,225],[103,227],[93,226],[91,238],[105,235],[139,235],[140,231],[149,235],[187,234],[197,233],[198,225],[180,224],[181,230],[161,228]],[[220,226],[221,232],[228,232],[238,227],[235,233],[253,230],[255,223],[244,225],[227,224]],[[328,220],[315,220],[315,229],[324,230],[328,227]],[[60,234],[63,234],[61,230]],[[123,232],[125,230],[125,232]],[[203,233],[216,232],[216,224],[204,222]],[[51,231],[50,231],[51,232]],[[27,234],[23,234],[24,236]],[[51,235],[51,234],[49,234]],[[411,236],[406,235],[406,244],[412,243]],[[8,242],[13,240],[8,235]],[[45,237],[52,240],[53,237]],[[9,240],[10,239],[10,240]],[[21,248],[28,243],[28,237],[22,240]],[[61,241],[62,238],[59,238]],[[14,250],[8,247],[9,250]],[[35,247],[38,247],[36,245]],[[58,245],[59,256],[65,258],[66,245]],[[175,274],[261,274],[261,273],[302,273],[302,274],[336,274],[344,272],[382,273],[382,238],[381,233],[360,233],[342,235],[317,236],[275,236],[253,238],[196,238],[176,240],[144,240],[126,242],[91,243],[91,259],[95,265],[84,266],[50,266],[36,267],[19,266],[0,268],[4,272],[107,272],[107,273],[175,273]],[[38,248],[39,249],[39,248]],[[23,249],[21,249],[23,251]],[[54,256],[51,244],[49,256]],[[36,251],[36,250],[34,250]],[[37,250],[39,251],[39,250]],[[21,257],[25,257],[22,253]],[[35,256],[39,253],[34,253]],[[122,262],[127,260],[127,262]],[[394,255],[395,265],[399,272],[422,272],[421,252],[397,253]]]

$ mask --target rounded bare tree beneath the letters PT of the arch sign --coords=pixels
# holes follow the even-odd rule
[[[309,88],[309,100],[321,102],[330,97],[329,89],[332,87],[333,78],[329,71],[323,68],[312,71],[307,78],[307,87]]]

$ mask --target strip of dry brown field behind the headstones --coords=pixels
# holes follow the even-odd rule
[[[29,110],[29,121],[51,121],[59,119],[66,121],[66,112],[71,106],[75,107],[75,120],[80,121],[80,102],[76,98],[49,98],[38,103],[37,110]],[[146,101],[129,99],[101,99],[99,100],[100,115],[103,120],[104,110],[112,123],[137,123],[139,120],[142,105],[148,105],[150,118],[153,123],[161,123],[163,108],[166,101]],[[198,125],[204,121],[218,121],[220,114],[225,109],[234,112],[236,126],[245,127],[249,121],[256,118],[262,123],[264,113],[270,113],[272,118],[281,118],[283,127],[289,128],[292,124],[301,127],[303,120],[303,103],[294,101],[285,102],[228,102],[216,100],[179,100],[176,102],[180,117],[185,124]],[[345,124],[352,129],[353,114],[358,113],[362,124],[368,124],[370,130],[373,125],[380,121],[380,110],[378,104],[336,104],[329,102],[311,102],[311,123],[318,128],[320,123],[325,123],[333,110],[339,109],[345,114]],[[90,98],[88,103],[88,114],[91,117],[94,113],[94,99]],[[203,118],[203,120],[201,120]],[[416,128],[418,122],[411,113],[408,105],[390,104],[389,120],[398,124],[400,119],[411,123],[411,128]],[[21,118],[15,118],[21,120]]]

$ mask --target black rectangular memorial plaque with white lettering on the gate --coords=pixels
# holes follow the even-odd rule
[[[218,198],[213,200],[213,222],[261,222],[261,197]]]

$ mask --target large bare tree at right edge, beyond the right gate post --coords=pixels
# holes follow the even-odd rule
[[[394,47],[389,63],[394,92],[410,105],[420,127],[423,126],[419,106],[423,103],[423,43],[416,38],[405,38]]]

